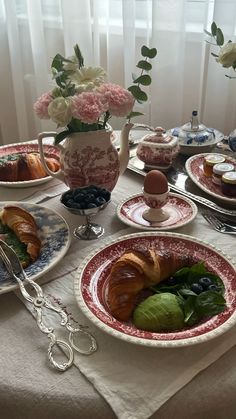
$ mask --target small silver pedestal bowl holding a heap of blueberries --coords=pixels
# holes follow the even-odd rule
[[[92,218],[95,217],[99,211],[103,210],[104,208],[106,208],[106,206],[109,204],[110,199],[106,202],[104,202],[103,204],[93,207],[93,208],[86,208],[86,209],[80,209],[80,208],[73,208],[70,207],[68,205],[66,205],[65,202],[63,202],[63,197],[65,196],[65,194],[67,194],[67,192],[65,192],[64,194],[62,194],[61,196],[61,203],[64,206],[64,208],[66,208],[68,211],[70,211],[72,214],[76,214],[76,215],[80,215],[85,217],[85,223],[79,225],[78,227],[76,227],[74,229],[74,236],[77,239],[80,240],[94,240],[94,239],[98,239],[99,237],[101,237],[104,234],[104,227],[100,224],[94,223],[92,222]]]

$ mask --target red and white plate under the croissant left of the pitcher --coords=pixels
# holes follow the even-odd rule
[[[60,160],[60,151],[57,147],[45,144],[43,149],[45,156]],[[11,155],[18,153],[39,153],[38,143],[16,143],[0,147],[0,158],[9,154]],[[46,176],[40,179],[25,180],[19,182],[5,182],[0,180],[0,186],[6,186],[8,188],[27,188],[29,186],[40,185],[41,183],[48,182],[51,179],[51,176]]]

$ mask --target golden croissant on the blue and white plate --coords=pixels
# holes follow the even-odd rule
[[[0,212],[0,219],[27,246],[30,259],[35,261],[41,250],[41,240],[38,237],[38,227],[34,217],[23,208],[7,205]]]

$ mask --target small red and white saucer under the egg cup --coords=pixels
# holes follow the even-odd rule
[[[148,207],[143,194],[133,195],[121,202],[117,207],[117,216],[125,224],[140,230],[173,230],[182,227],[196,217],[197,206],[190,199],[175,193],[169,193],[168,201],[162,208],[169,218],[161,222],[150,222],[142,214]]]

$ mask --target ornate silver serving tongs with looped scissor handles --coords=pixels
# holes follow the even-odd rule
[[[16,255],[15,251],[8,246],[4,241],[0,240],[0,257],[4,262],[4,265],[8,271],[8,273],[18,282],[21,294],[23,297],[29,301],[34,306],[34,310],[36,312],[36,321],[39,329],[41,332],[45,333],[48,338],[50,339],[50,343],[48,346],[48,358],[51,363],[51,365],[56,368],[59,371],[66,371],[72,364],[74,360],[74,351],[75,349],[77,352],[82,353],[84,355],[90,355],[93,352],[97,350],[97,343],[95,338],[86,330],[84,330],[84,326],[79,326],[78,328],[74,328],[69,323],[69,319],[67,314],[62,308],[54,306],[43,294],[42,288],[34,282],[32,279],[30,279],[24,269],[21,266],[21,263],[18,259],[18,256]],[[30,284],[34,291],[36,292],[36,296],[32,296],[29,294],[29,292],[26,290],[24,286],[24,282],[27,282]],[[63,340],[57,339],[54,329],[52,327],[48,327],[43,322],[43,316],[42,316],[42,309],[43,307],[52,310],[56,313],[58,313],[61,316],[61,325],[65,326],[66,329],[69,331],[69,342],[65,342]],[[83,337],[89,339],[90,345],[88,349],[82,349],[79,348],[74,343],[74,334],[83,334]],[[66,357],[68,361],[63,363],[58,363],[53,358],[53,347],[55,345],[58,345],[59,347],[64,347],[66,349]]]

